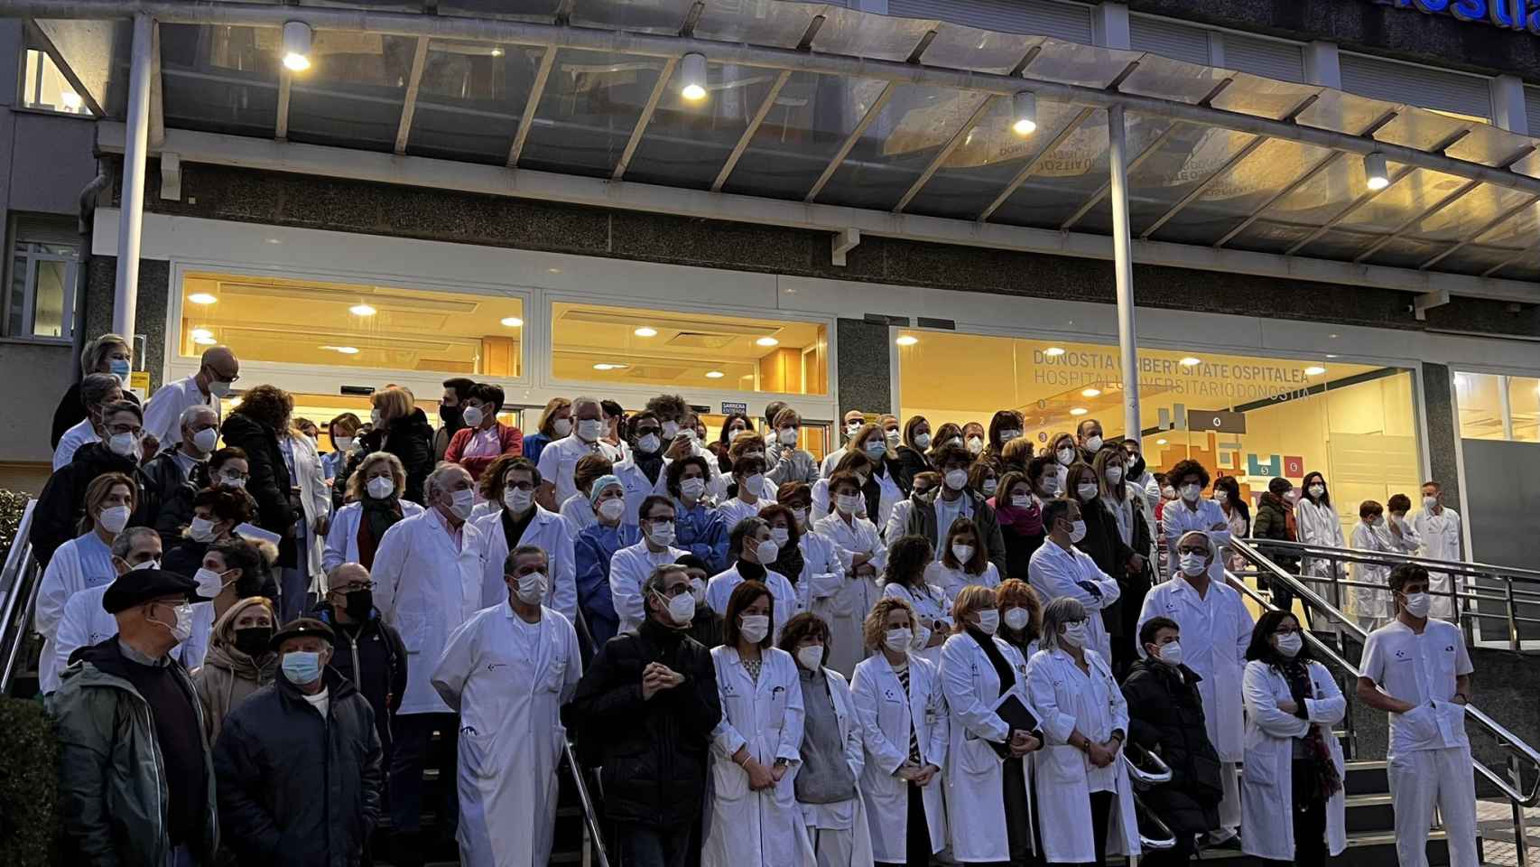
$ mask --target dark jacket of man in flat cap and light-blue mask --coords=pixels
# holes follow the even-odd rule
[[[279,678],[225,718],[214,744],[223,841],[243,867],[353,867],[380,815],[374,711],[333,668],[326,719]]]

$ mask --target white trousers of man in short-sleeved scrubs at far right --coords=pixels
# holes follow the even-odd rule
[[[1428,829],[1434,807],[1449,836],[1449,865],[1477,867],[1475,770],[1469,747],[1417,750],[1391,756],[1395,855],[1400,867],[1428,867]]]

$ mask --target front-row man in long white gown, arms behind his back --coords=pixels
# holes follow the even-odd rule
[[[578,690],[582,658],[571,621],[542,604],[545,551],[519,545],[504,570],[507,598],[454,630],[433,688],[460,715],[460,864],[545,867],[567,745],[561,710]]]

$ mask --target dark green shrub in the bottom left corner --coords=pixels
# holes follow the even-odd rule
[[[52,862],[57,756],[54,727],[43,705],[0,698],[0,864],[48,867]]]

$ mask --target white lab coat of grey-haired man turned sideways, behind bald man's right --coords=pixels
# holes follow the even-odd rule
[[[374,607],[407,645],[407,695],[397,713],[450,713],[428,678],[450,634],[480,605],[480,533],[460,525],[460,544],[437,508],[403,517],[374,550]]]

